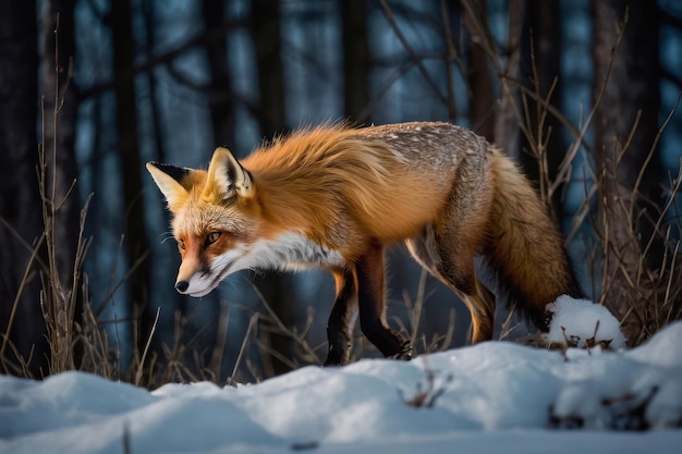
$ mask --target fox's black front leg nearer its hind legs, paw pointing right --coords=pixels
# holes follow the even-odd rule
[[[410,341],[386,326],[383,246],[373,243],[355,263],[360,327],[363,334],[386,357],[410,359]]]

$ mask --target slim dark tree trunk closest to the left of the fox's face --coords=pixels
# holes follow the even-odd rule
[[[113,68],[115,74],[118,151],[125,201],[125,250],[129,263],[146,256],[149,240],[145,229],[145,209],[142,198],[142,159],[139,156],[137,105],[134,77],[130,71],[134,62],[133,16],[131,0],[111,2],[111,32],[113,36]],[[131,278],[131,314],[137,320],[137,349],[143,352],[151,332],[154,315],[149,308],[149,267],[142,260]]]

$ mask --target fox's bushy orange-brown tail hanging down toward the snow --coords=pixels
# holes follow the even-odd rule
[[[535,189],[513,161],[494,150],[496,184],[485,256],[499,273],[508,305],[547,330],[545,306],[559,295],[580,296],[563,237]]]

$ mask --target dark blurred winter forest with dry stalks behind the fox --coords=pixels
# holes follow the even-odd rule
[[[331,279],[179,295],[144,163],[341,120],[450,121],[514,156],[637,345],[682,310],[681,90],[674,0],[2,1],[0,370],[154,386],[319,364]],[[463,305],[401,247],[389,274],[417,352],[465,343]],[[506,317],[500,338],[526,333]]]

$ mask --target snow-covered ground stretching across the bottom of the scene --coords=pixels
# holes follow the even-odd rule
[[[680,454],[681,347],[677,322],[632,351],[489,342],[238,388],[0,377],[0,453]]]

